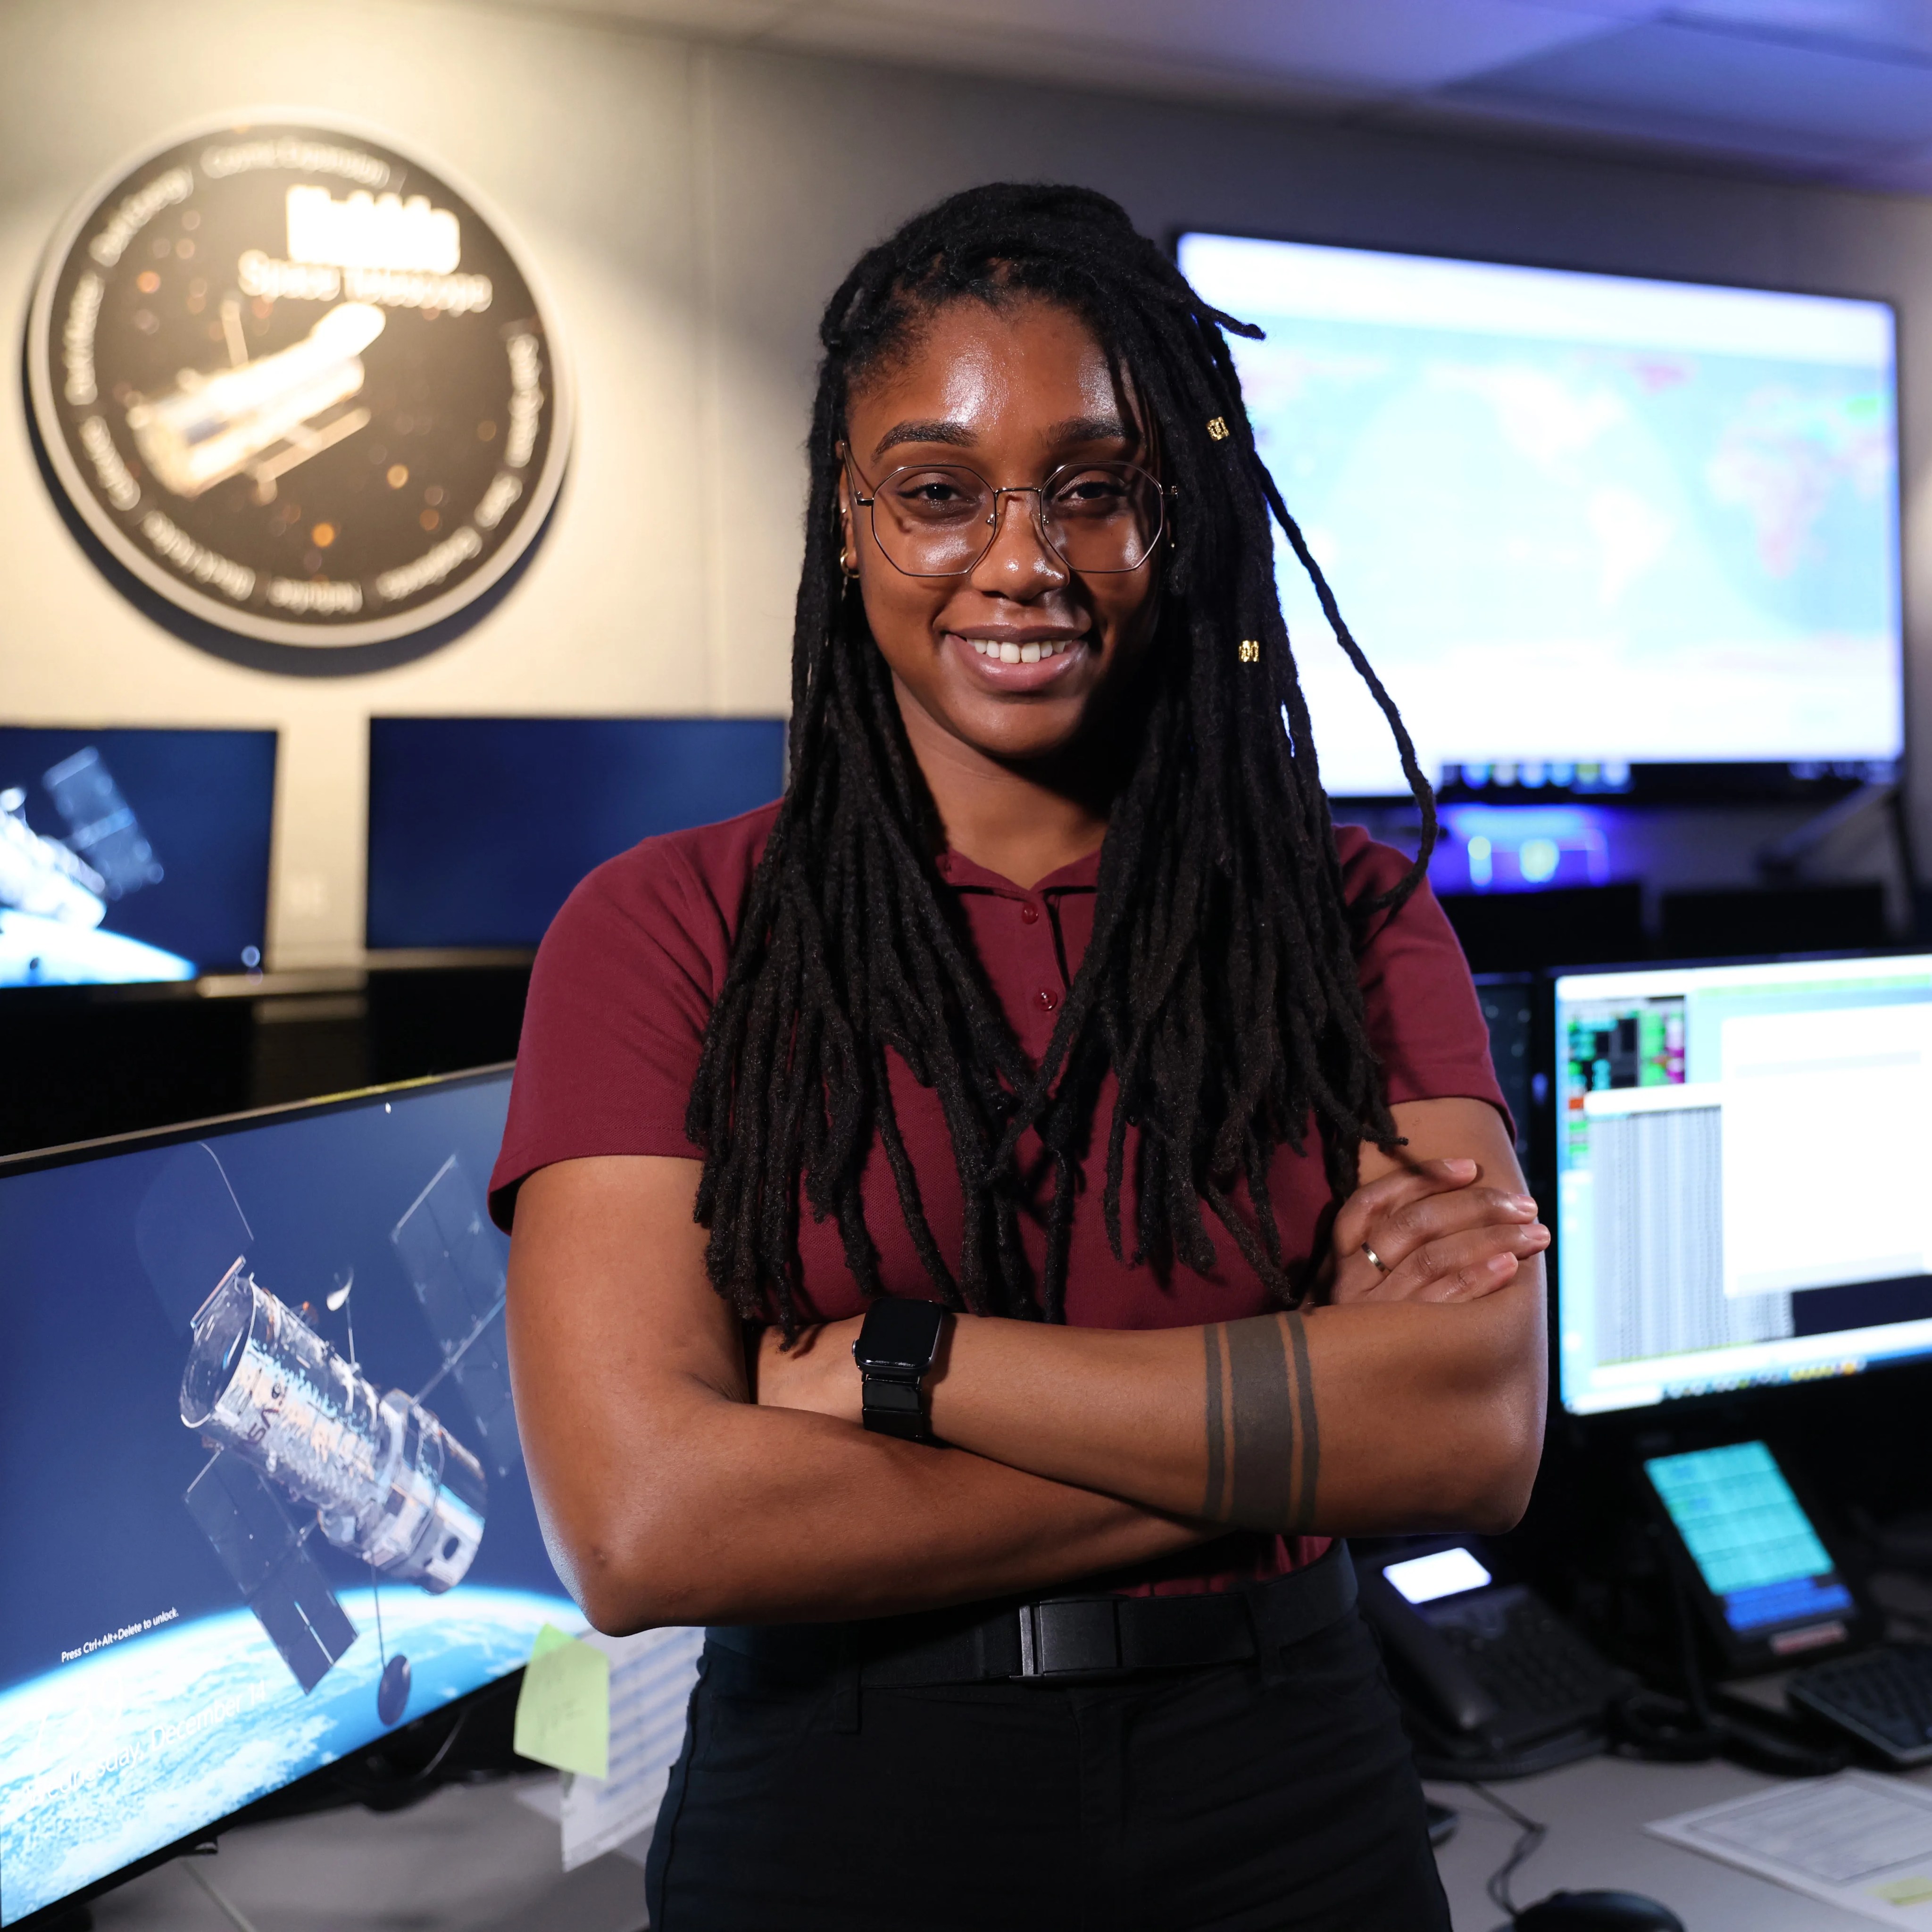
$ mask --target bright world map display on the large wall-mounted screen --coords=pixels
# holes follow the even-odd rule
[[[1180,267],[1267,332],[1231,342],[1256,442],[1430,779],[1899,757],[1888,305],[1213,234]],[[1279,556],[1327,788],[1405,792]]]

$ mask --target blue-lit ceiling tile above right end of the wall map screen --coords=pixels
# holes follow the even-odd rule
[[[1932,73],[1776,41],[1642,25],[1443,91],[1468,106],[1609,120],[1723,141],[1820,143],[1882,158],[1932,141]]]

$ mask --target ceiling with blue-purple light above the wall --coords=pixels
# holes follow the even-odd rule
[[[1932,191],[1932,0],[522,0],[705,39]]]

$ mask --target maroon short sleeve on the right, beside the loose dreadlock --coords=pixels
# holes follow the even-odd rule
[[[1401,852],[1376,844],[1360,825],[1337,827],[1335,848],[1350,906],[1385,893],[1408,869]],[[1395,912],[1368,916],[1360,976],[1368,1037],[1391,1103],[1486,1099],[1509,1121],[1468,960],[1428,879]]]

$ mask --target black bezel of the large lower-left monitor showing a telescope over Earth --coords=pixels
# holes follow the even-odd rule
[[[328,1094],[319,1099],[286,1101],[274,1107],[249,1107],[242,1113],[211,1115],[203,1121],[184,1121],[174,1126],[137,1128],[129,1134],[106,1134],[99,1140],[75,1140],[58,1148],[37,1148],[27,1153],[0,1155],[0,1182],[12,1180],[17,1175],[43,1173],[54,1167],[77,1167],[93,1159],[114,1159],[116,1155],[133,1153],[143,1148],[170,1148],[180,1146],[182,1142],[218,1138],[280,1121],[323,1119],[327,1115],[367,1107],[373,1101],[388,1101],[398,1095],[419,1094],[425,1088],[458,1090],[479,1086],[485,1080],[500,1080],[504,1074],[514,1072],[514,1061],[495,1061],[489,1066],[468,1066],[462,1072],[452,1074],[425,1074],[417,1080],[396,1080],[386,1086],[355,1088],[348,1094]],[[439,1704],[435,1710],[427,1710],[419,1718],[410,1719],[410,1723],[398,1725],[388,1735],[371,1739],[371,1743],[361,1750],[352,1752],[334,1764],[319,1764],[313,1770],[303,1772],[299,1777],[292,1777],[286,1785],[276,1785],[272,1791],[265,1791],[261,1797],[251,1799],[238,1810],[222,1812],[172,1843],[160,1845],[129,1864],[116,1866],[112,1872],[102,1872],[99,1878],[64,1893],[50,1905],[37,1907],[23,1918],[12,1920],[8,1932],[56,1932],[56,1928],[60,1928],[60,1932],[71,1932],[75,1909],[85,1905],[89,1899],[114,1891],[118,1886],[139,1878],[143,1872],[153,1872],[162,1864],[172,1864],[176,1859],[213,1851],[213,1841],[220,1837],[222,1832],[230,1832],[242,1824],[290,1818],[315,1810],[332,1810],[338,1804],[363,1803],[371,1797],[394,1804],[412,1803],[415,1797],[427,1797],[435,1789],[437,1772],[462,1776],[469,1770],[466,1760],[458,1762],[448,1756],[450,1747],[458,1739],[458,1731],[483,1704],[493,1698],[506,1698],[510,1694],[510,1687],[516,1685],[520,1675],[520,1671],[506,1671],[502,1677],[493,1677],[489,1683],[477,1685],[473,1690],[464,1690],[460,1696]],[[404,1768],[398,1772],[392,1762],[396,1756],[396,1741],[404,1737],[421,1737],[425,1733],[439,1737],[440,1743],[431,1745],[423,1766]]]

